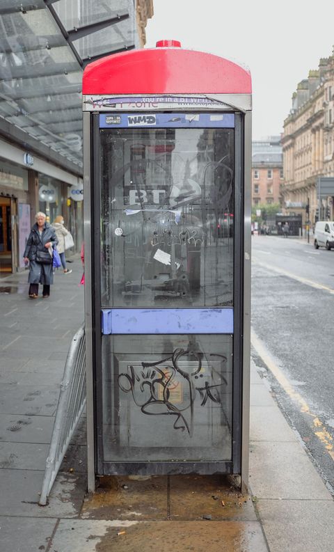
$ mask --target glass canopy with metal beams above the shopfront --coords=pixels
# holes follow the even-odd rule
[[[82,166],[82,71],[137,45],[134,0],[0,0],[0,118]]]

